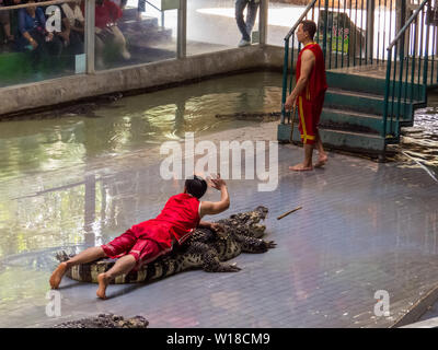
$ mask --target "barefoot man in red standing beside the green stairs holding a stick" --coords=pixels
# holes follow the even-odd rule
[[[324,55],[321,47],[313,42],[315,32],[316,24],[313,21],[302,21],[298,26],[297,39],[304,47],[298,55],[297,84],[285,104],[286,109],[291,109],[293,106],[293,110],[298,105],[300,119],[298,127],[304,144],[304,161],[295,166],[289,166],[289,170],[296,172],[313,170],[313,148],[319,151],[319,160],[314,166],[320,167],[327,162],[327,154],[324,152],[318,131],[327,83],[325,80]]]

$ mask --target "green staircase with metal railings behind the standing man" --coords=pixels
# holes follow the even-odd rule
[[[322,1],[310,3],[302,19],[307,18],[312,9],[314,16],[316,2],[321,7]],[[323,33],[322,35],[318,33],[319,36],[316,37],[316,40],[320,39],[321,42],[320,45],[325,54],[327,67],[328,90],[325,94],[324,108],[320,119],[320,136],[324,147],[382,158],[388,144],[399,142],[400,128],[413,125],[415,109],[425,106],[427,103],[427,88],[435,86],[438,80],[438,77],[429,77],[434,68],[434,75],[438,71],[435,67],[438,63],[435,58],[435,46],[425,45],[425,47],[429,47],[428,50],[425,47],[422,48],[418,44],[427,43],[428,34],[426,33],[429,33],[429,25],[422,30],[420,40],[414,42],[413,39],[415,34],[418,34],[414,26],[418,22],[415,21],[417,21],[418,14],[424,15],[422,11],[426,12],[426,9],[431,9],[430,3],[430,0],[423,1],[418,11],[406,21],[404,28],[397,35],[394,35],[392,43],[387,40],[387,59],[384,59],[385,52],[382,52],[381,57],[378,55],[377,58],[376,52],[374,55],[364,55],[360,50],[362,47],[360,44],[355,54],[348,52],[348,56],[353,54],[351,59],[351,57],[346,57],[345,52],[339,55],[338,50],[337,52],[332,50],[334,48],[334,44],[331,43],[333,31],[325,31],[326,26],[321,25],[321,22],[330,23],[330,15],[333,12],[335,14],[337,12],[337,19],[341,19],[339,13],[342,12],[339,4],[337,4],[337,9],[330,9],[328,1],[325,0],[325,13],[321,12],[325,18],[319,19],[319,31],[323,31]],[[370,1],[367,1],[367,4],[372,8]],[[427,8],[427,5],[429,7]],[[377,10],[372,11],[376,12]],[[350,18],[353,16],[351,10],[348,11],[348,8],[345,13]],[[336,20],[333,18],[332,14],[332,27],[337,25],[337,28],[339,28],[345,25],[346,20],[344,20],[344,23],[338,21],[336,24]],[[347,15],[344,18],[348,19]],[[302,19],[297,23],[299,24]],[[298,24],[292,27],[290,34],[295,33]],[[323,30],[321,30],[321,26],[323,26]],[[286,38],[285,40],[287,42]],[[355,42],[358,43],[358,40]],[[288,61],[286,47],[289,49],[288,42],[285,45],[285,62]],[[406,49],[404,49],[405,47]],[[367,50],[367,47],[365,47],[365,50]],[[428,55],[427,51],[433,55]],[[293,38],[291,52],[291,67],[293,67]],[[337,56],[341,56],[341,58],[338,59]],[[286,101],[287,88],[289,88],[290,93],[292,85],[292,78],[290,78],[288,86],[284,73],[284,101]],[[283,107],[281,124],[278,126],[277,133],[278,141],[301,142],[298,117],[295,118],[292,137],[290,135],[291,119],[290,113],[287,113]]]

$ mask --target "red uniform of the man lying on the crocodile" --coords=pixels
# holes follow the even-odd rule
[[[134,225],[108,244],[102,245],[110,258],[130,254],[139,264],[148,264],[183,243],[199,224],[200,201],[188,194],[169,198],[155,218]]]

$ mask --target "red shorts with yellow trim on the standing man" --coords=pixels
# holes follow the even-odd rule
[[[298,96],[298,116],[300,119],[298,128],[304,144],[314,144],[315,142],[323,104],[324,95],[313,101]]]

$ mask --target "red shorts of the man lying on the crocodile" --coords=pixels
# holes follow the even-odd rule
[[[130,254],[136,258],[137,266],[148,264],[160,255],[170,252],[172,248],[163,249],[155,241],[149,238],[137,238],[131,230],[114,238],[108,244],[102,245],[106,256],[112,259]]]

